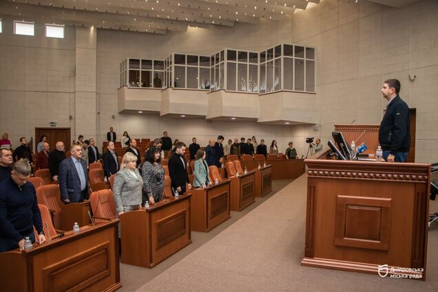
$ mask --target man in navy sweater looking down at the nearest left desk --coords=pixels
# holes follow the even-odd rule
[[[28,163],[19,161],[0,183],[0,252],[23,250],[26,237],[35,242],[34,227],[39,234],[36,241],[45,242],[35,188],[28,182],[31,171]]]

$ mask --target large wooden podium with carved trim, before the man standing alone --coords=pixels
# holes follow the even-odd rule
[[[425,280],[430,165],[324,157],[305,160],[302,264]]]

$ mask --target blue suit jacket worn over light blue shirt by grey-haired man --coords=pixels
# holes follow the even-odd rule
[[[85,174],[85,185],[88,187],[87,165],[82,159],[81,165]],[[61,161],[58,181],[59,189],[61,189],[61,200],[69,199],[70,202],[79,202],[81,200],[81,180],[72,158],[65,158]]]

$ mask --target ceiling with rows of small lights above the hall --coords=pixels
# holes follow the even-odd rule
[[[0,0],[0,15],[112,30],[165,34],[187,26],[282,21],[320,0]]]

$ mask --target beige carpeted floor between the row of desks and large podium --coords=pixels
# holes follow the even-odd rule
[[[429,231],[426,282],[381,278],[302,267],[305,210],[301,176],[138,291],[437,291],[438,225]]]

